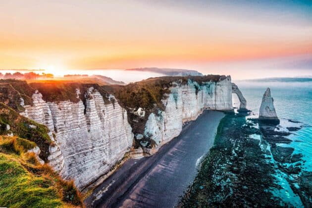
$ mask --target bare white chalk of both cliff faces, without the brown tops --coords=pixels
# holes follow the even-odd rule
[[[90,87],[82,95],[76,89],[78,102],[46,102],[38,91],[32,95],[32,105],[21,102],[25,108],[22,115],[50,130],[55,143],[49,148],[48,160],[52,168],[64,179],[73,179],[80,190],[107,174],[133,145],[127,111],[114,96],[103,98],[98,90]],[[241,95],[237,86],[233,91],[230,76],[200,84],[191,79],[187,83],[178,80],[161,100],[163,111],[159,109],[147,114],[144,109],[132,112],[129,108],[130,113],[147,116],[143,135],[136,135],[142,149],[132,153],[136,156],[154,154],[180,134],[183,122],[195,120],[205,109],[232,110],[232,93]],[[241,101],[245,100],[242,95],[241,98]],[[104,103],[104,100],[109,102]],[[246,107],[246,100],[241,106]],[[146,138],[155,142],[152,148]]]

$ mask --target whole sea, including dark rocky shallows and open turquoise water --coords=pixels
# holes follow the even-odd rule
[[[312,207],[312,79],[233,82],[251,111],[236,109],[221,120],[214,146],[179,207]],[[290,142],[267,141],[260,131],[257,118],[266,88],[280,119],[271,138]],[[234,94],[233,106],[239,107]],[[283,150],[300,158],[291,161]]]

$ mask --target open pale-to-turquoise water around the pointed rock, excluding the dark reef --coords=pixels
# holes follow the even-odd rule
[[[255,112],[256,116],[259,113],[262,95],[266,87],[269,87],[277,115],[281,120],[280,125],[283,127],[292,125],[288,119],[302,122],[300,125],[303,128],[287,137],[294,142],[279,145],[294,148],[294,154],[302,154],[305,161],[302,170],[312,171],[312,82],[237,82],[237,85],[247,100],[247,108]],[[233,102],[234,105],[238,104],[236,98]],[[271,162],[274,163],[274,160]],[[274,190],[274,195],[295,207],[302,207],[300,198],[287,182],[292,178],[281,171],[277,171],[275,177],[283,189]]]

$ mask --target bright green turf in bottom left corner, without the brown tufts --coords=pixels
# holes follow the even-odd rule
[[[51,181],[27,171],[12,156],[0,153],[0,206],[63,207]]]

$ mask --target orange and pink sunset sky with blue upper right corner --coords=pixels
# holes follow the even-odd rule
[[[312,75],[312,1],[0,0],[0,69]]]

